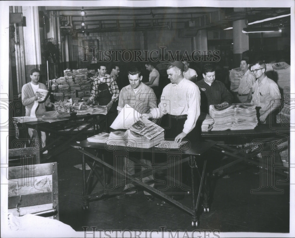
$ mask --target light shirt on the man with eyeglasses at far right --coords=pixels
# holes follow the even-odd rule
[[[260,83],[257,79],[253,84],[252,91],[252,103],[261,107],[259,110],[260,114],[271,108],[274,99],[279,99],[281,97],[278,85],[267,76],[265,76]]]

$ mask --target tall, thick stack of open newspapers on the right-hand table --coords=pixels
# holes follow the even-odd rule
[[[212,131],[248,130],[258,124],[255,105],[250,103],[210,105],[209,114],[214,119]]]

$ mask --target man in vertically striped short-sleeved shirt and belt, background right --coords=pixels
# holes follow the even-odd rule
[[[238,88],[238,100],[240,103],[251,102],[252,98],[252,85],[255,82],[254,74],[248,69],[249,64],[247,59],[241,59],[240,68],[244,75],[240,80]]]

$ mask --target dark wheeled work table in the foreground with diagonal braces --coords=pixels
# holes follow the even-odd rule
[[[124,179],[125,182],[128,183],[136,183],[140,186],[142,186],[145,190],[152,192],[153,194],[157,194],[161,197],[161,199],[169,201],[176,205],[177,207],[183,209],[184,211],[188,212],[192,215],[192,226],[198,226],[199,224],[199,215],[200,215],[200,198],[201,193],[203,193],[203,207],[205,212],[209,212],[209,202],[208,202],[208,196],[209,191],[207,189],[207,172],[206,172],[206,164],[208,157],[206,156],[207,152],[214,146],[216,142],[199,142],[194,143],[194,146],[187,146],[181,147],[180,149],[163,149],[163,148],[148,148],[148,149],[142,149],[142,148],[136,148],[136,147],[123,147],[123,146],[114,146],[114,145],[107,145],[105,143],[93,143],[88,142],[87,140],[83,140],[81,142],[76,142],[71,144],[72,147],[76,148],[78,151],[82,154],[82,171],[83,171],[83,209],[89,208],[89,202],[92,199],[97,199],[97,197],[105,198],[108,196],[108,189],[113,187],[113,184],[109,184],[106,186],[106,178],[104,173],[104,168],[108,167],[112,169],[114,172],[116,172],[119,175],[126,176],[127,179]],[[167,161],[164,163],[151,163],[151,164],[141,164],[138,163],[138,160],[129,157],[130,154],[143,154],[143,153],[151,153],[151,154],[166,154],[167,155]],[[189,157],[186,157],[188,155]],[[112,165],[112,162],[114,161],[127,161],[126,158],[129,158],[133,160],[135,163],[137,163],[137,166],[145,167],[146,169],[141,172],[130,174],[130,173],[124,173],[123,170],[118,169],[116,165]],[[175,159],[177,158],[177,159]],[[175,169],[179,164],[182,164],[184,162],[188,162],[190,165],[190,173],[191,173],[191,187],[188,187],[184,184],[181,184],[183,186],[186,186],[186,188],[189,189],[190,194],[192,195],[192,207],[186,207],[185,205],[181,204],[180,202],[172,199],[172,197],[168,196],[164,192],[161,192],[158,189],[155,189],[153,187],[148,186],[148,184],[145,184],[142,182],[142,177],[146,177],[151,175],[153,172],[159,171],[159,170],[167,170],[167,169]],[[88,175],[88,178],[86,179],[86,163],[91,168],[90,174]],[[102,165],[103,168],[103,178],[98,174],[95,167],[97,166],[97,163]],[[114,163],[115,164],[115,163]],[[91,175],[95,174],[97,179],[101,182],[101,184],[104,186],[103,191],[99,192],[93,192],[93,186],[91,184]],[[196,183],[196,176],[200,179],[200,184],[197,186]],[[168,179],[171,181],[175,178],[171,176],[167,176]]]

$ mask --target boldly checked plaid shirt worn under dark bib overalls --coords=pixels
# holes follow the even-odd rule
[[[106,74],[102,80],[100,80],[99,77],[94,79],[89,99],[95,100],[98,95],[98,86],[102,83],[106,83],[108,85],[109,91],[112,94],[112,100],[115,99],[113,101],[117,101],[119,97],[119,88],[114,78],[109,74]]]

